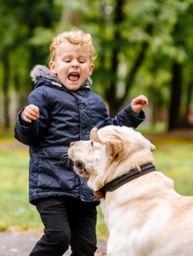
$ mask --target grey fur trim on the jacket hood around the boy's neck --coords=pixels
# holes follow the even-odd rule
[[[43,65],[35,65],[32,71],[30,72],[30,76],[34,83],[37,82],[38,78],[45,77],[45,78],[51,79],[55,83],[62,85],[58,77],[54,73],[52,73],[48,67]],[[89,76],[85,80],[84,85],[89,87],[92,85],[92,79]]]

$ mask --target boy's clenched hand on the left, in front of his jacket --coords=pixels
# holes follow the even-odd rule
[[[40,117],[39,108],[33,104],[28,105],[23,109],[21,117],[24,121],[31,123],[32,120],[37,120]]]

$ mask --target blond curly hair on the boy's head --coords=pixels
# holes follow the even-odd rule
[[[58,34],[57,37],[53,38],[52,44],[50,45],[51,61],[54,61],[56,56],[56,51],[58,45],[62,42],[68,41],[70,43],[76,44],[77,47],[80,45],[88,45],[91,53],[91,61],[96,59],[96,51],[92,45],[92,37],[89,33],[84,33],[82,30],[74,28],[70,31],[65,31],[61,34]]]

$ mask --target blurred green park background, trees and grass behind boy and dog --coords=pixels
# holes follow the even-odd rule
[[[0,0],[0,17],[0,231],[43,228],[28,202],[28,147],[14,139],[14,123],[34,86],[31,69],[47,66],[53,37],[73,27],[93,38],[92,91],[112,117],[148,97],[137,130],[155,144],[156,168],[193,195],[192,0]]]

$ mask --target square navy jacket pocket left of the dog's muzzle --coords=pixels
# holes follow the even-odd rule
[[[44,147],[39,150],[38,187],[69,190],[75,185],[75,172],[67,157],[68,147]],[[67,157],[67,159],[66,159]]]

